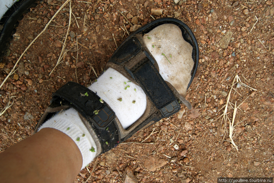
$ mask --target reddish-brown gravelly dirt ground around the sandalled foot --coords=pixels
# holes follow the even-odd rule
[[[38,2],[20,21],[8,56],[0,65],[0,82],[63,3]],[[186,97],[193,108],[181,106],[179,114],[162,119],[126,141],[136,143],[120,144],[99,156],[92,176],[95,161],[74,182],[88,177],[87,182],[123,182],[126,167],[139,182],[273,177],[274,1],[72,0],[71,6],[73,14],[61,63],[54,69],[68,30],[68,5],[0,88],[0,109],[13,101],[0,117],[0,152],[33,133],[51,94],[63,84],[75,81],[90,85],[116,44],[138,25],[175,17],[191,28],[199,45],[198,71]],[[160,16],[153,8],[160,9]],[[230,92],[236,75],[240,80],[234,81]],[[223,106],[229,94],[224,124]],[[241,104],[232,134],[238,151],[229,137],[235,102]]]

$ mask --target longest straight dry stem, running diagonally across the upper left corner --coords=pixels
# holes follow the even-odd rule
[[[45,28],[40,32],[40,34],[38,34],[34,40],[29,44],[29,46],[23,51],[23,53],[20,55],[20,57],[18,58],[18,60],[16,61],[14,67],[12,68],[12,70],[9,72],[9,74],[7,75],[7,77],[4,79],[4,81],[1,83],[0,88],[2,88],[2,86],[4,85],[4,83],[7,81],[7,79],[9,78],[9,76],[12,74],[12,72],[15,70],[15,67],[17,66],[17,64],[19,63],[19,61],[21,60],[21,58],[23,57],[23,55],[26,53],[26,51],[30,48],[30,46],[34,43],[34,41],[37,40],[37,38],[45,32],[45,30],[47,29],[47,27],[49,26],[49,24],[51,23],[51,21],[55,18],[55,16],[61,11],[61,9],[71,0],[66,0],[65,3],[58,9],[58,11],[54,14],[54,16],[52,16],[52,18],[50,19],[50,21],[47,22]]]

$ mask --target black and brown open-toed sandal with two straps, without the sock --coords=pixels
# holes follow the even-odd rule
[[[142,26],[128,36],[117,48],[107,64],[107,68],[114,68],[130,81],[141,86],[147,95],[146,111],[134,124],[128,129],[124,129],[111,108],[105,102],[100,102],[100,97],[82,85],[68,82],[53,94],[51,105],[37,124],[35,132],[56,112],[73,107],[79,112],[80,118],[96,144],[101,144],[100,147],[97,147],[97,155],[99,155],[116,147],[136,132],[178,112],[180,110],[178,101],[191,108],[190,103],[172,85],[163,80],[157,70],[155,59],[142,44],[140,36],[166,23],[177,25],[182,31],[184,40],[193,47],[192,59],[194,60],[194,67],[191,72],[191,80],[188,83],[189,87],[198,67],[198,43],[195,36],[189,27],[180,20],[174,18],[157,19]],[[81,96],[83,93],[88,95],[83,97]],[[94,114],[93,111],[95,110],[99,112]]]

